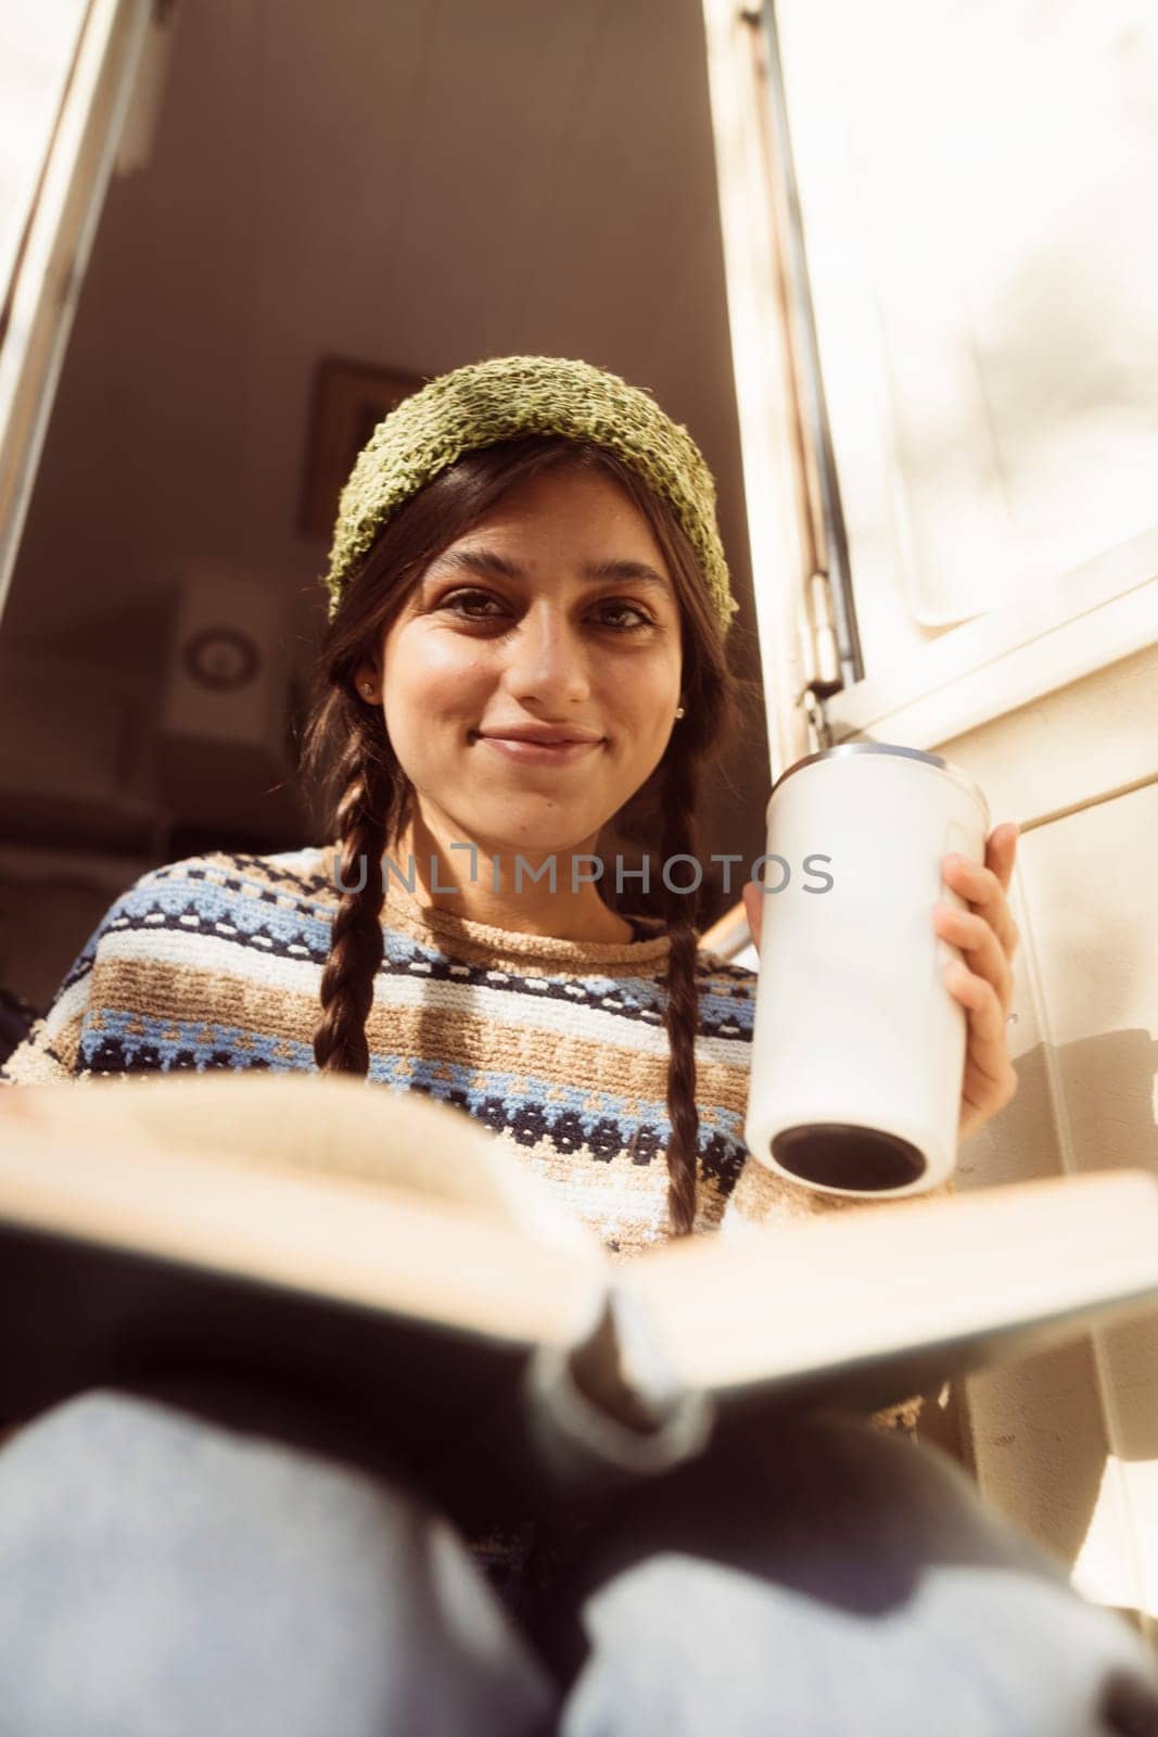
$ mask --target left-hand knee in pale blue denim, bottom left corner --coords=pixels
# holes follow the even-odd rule
[[[441,1515],[365,1471],[108,1390],[0,1452],[12,1673],[28,1707],[3,1730],[38,1737],[80,1709],[71,1730],[125,1737],[467,1728],[479,1695],[497,1730],[545,1716],[545,1678]]]

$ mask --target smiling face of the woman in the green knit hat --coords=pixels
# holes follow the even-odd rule
[[[382,705],[443,841],[587,849],[663,756],[681,667],[646,518],[599,472],[547,472],[431,563],[384,637]],[[582,740],[503,740],[528,726]]]

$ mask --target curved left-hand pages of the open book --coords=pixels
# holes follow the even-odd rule
[[[592,1331],[602,1249],[530,1230],[483,1129],[424,1098],[359,1122],[365,1086],[304,1082],[0,1094],[0,1251],[101,1245],[526,1346]]]

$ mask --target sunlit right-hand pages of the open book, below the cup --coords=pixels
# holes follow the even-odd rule
[[[997,1339],[1120,1301],[1158,1306],[1158,1178],[1120,1169],[1007,1183],[616,1270],[655,1351],[712,1391]]]

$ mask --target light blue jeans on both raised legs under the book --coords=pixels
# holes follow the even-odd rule
[[[526,1621],[401,1483],[262,1430],[97,1390],[0,1449],[2,1737],[898,1730],[1158,1734],[1158,1666],[859,1417],[622,1492]]]

